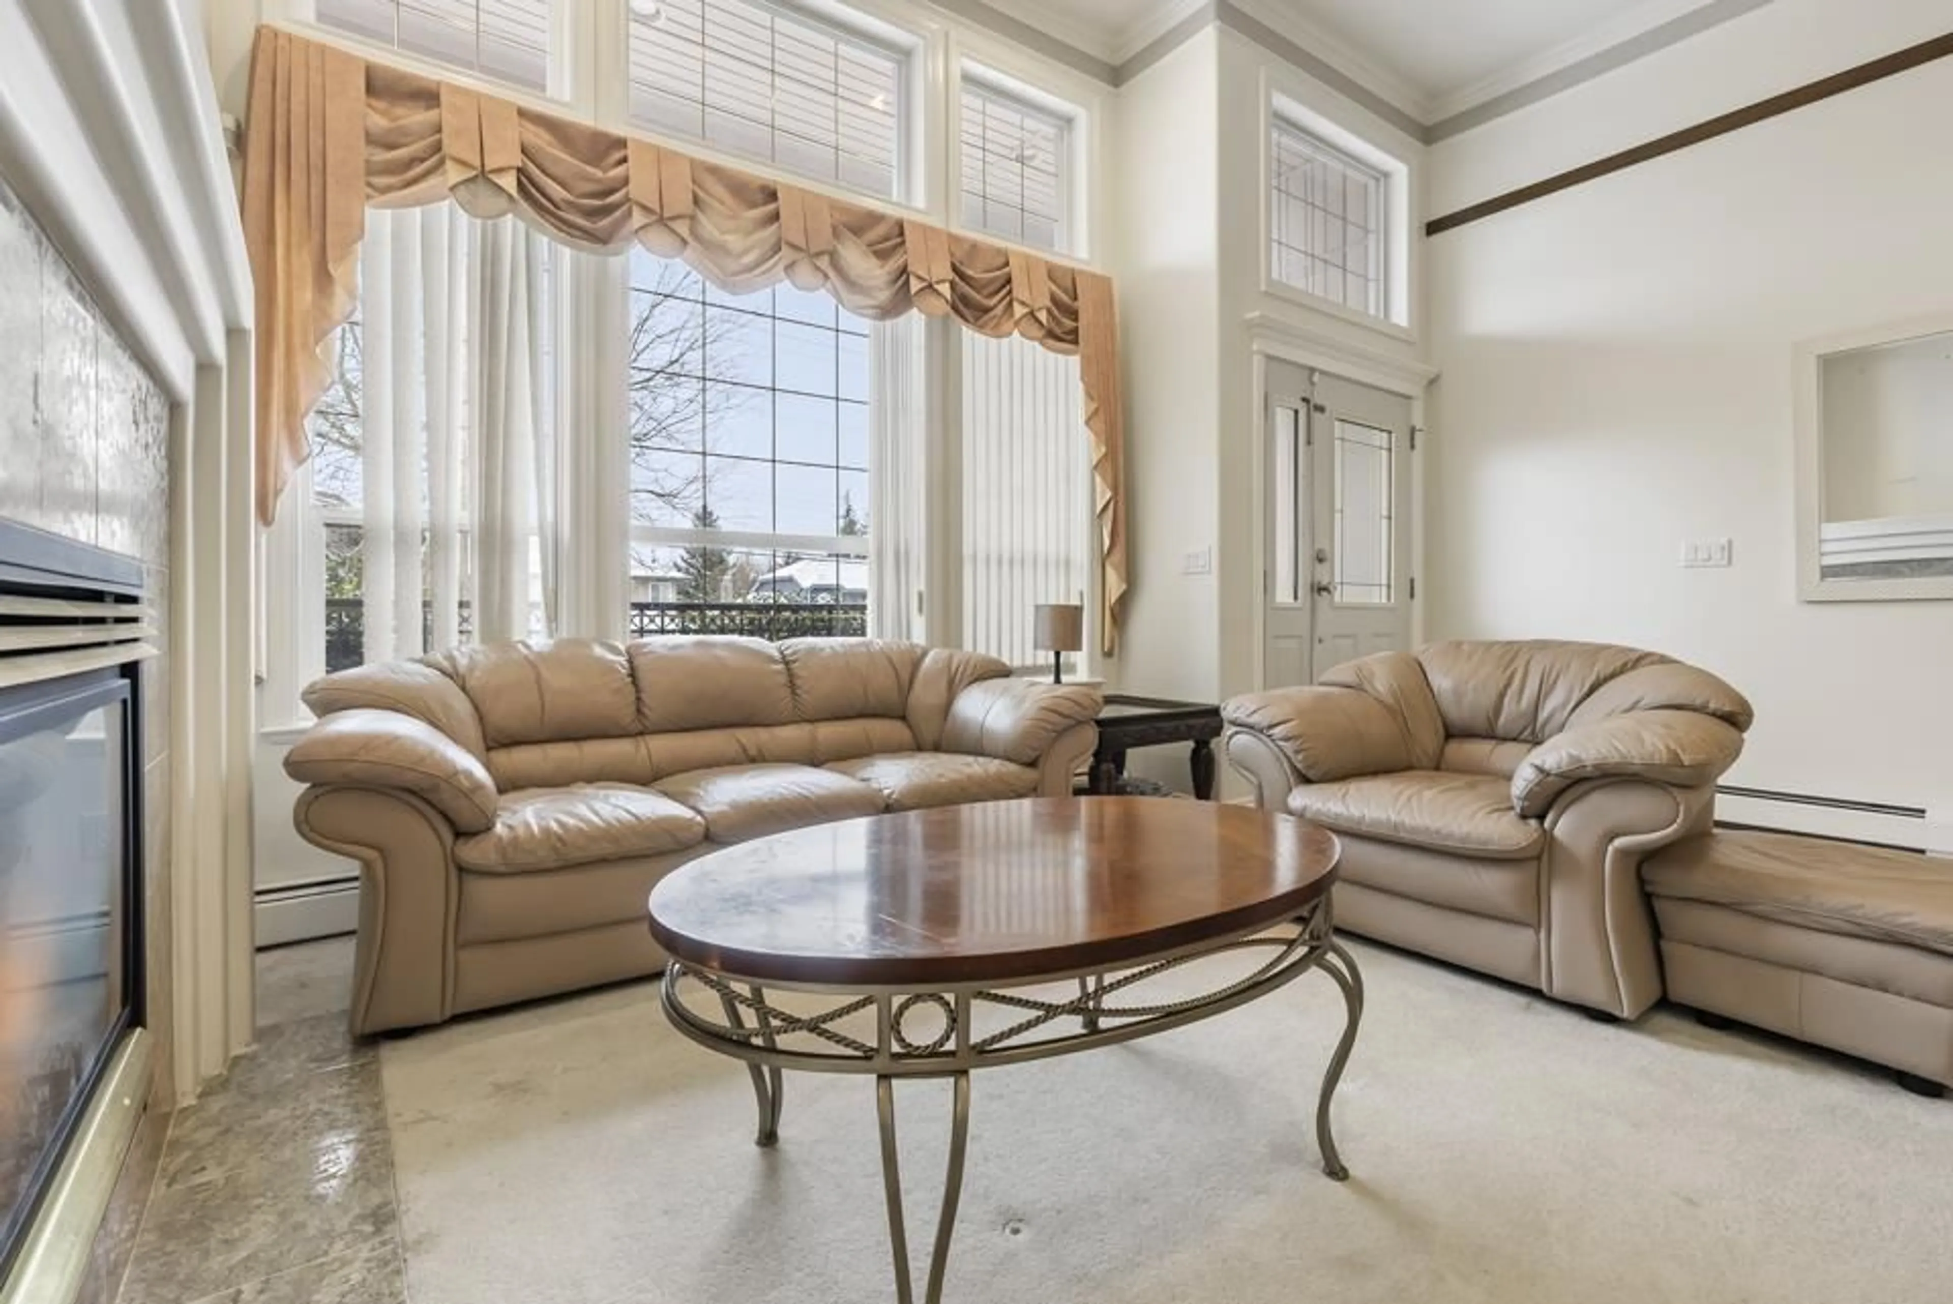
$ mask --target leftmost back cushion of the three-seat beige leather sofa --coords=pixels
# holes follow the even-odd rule
[[[430,656],[428,664],[475,703],[490,748],[637,732],[637,689],[615,642],[484,642]]]

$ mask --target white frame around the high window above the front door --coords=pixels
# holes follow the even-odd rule
[[[1359,312],[1324,295],[1314,295],[1299,285],[1275,275],[1275,131],[1301,133],[1342,154],[1361,168],[1383,178],[1385,221],[1383,234],[1383,314]],[[1412,172],[1410,164],[1369,137],[1350,131],[1342,123],[1305,105],[1301,100],[1266,90],[1262,96],[1262,189],[1260,189],[1260,234],[1262,250],[1262,293],[1281,299],[1338,320],[1365,326],[1369,330],[1414,342],[1412,330],[1412,277],[1414,242],[1410,230]]]

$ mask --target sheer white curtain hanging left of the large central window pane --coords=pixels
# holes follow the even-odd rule
[[[365,660],[557,629],[551,281],[514,219],[367,215],[359,254]]]

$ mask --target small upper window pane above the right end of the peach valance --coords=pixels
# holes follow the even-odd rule
[[[963,78],[963,224],[1060,250],[1070,123]]]

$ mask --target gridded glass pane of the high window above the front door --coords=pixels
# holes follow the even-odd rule
[[[1330,303],[1387,316],[1385,176],[1275,123],[1269,273]]]

